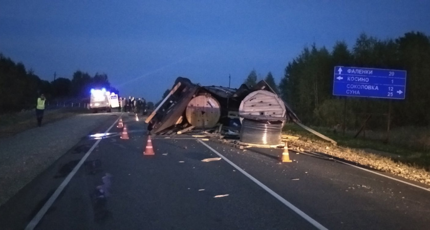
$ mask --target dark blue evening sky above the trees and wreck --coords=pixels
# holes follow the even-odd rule
[[[45,80],[105,73],[122,96],[156,102],[178,76],[239,87],[255,68],[279,82],[313,42],[430,35],[429,12],[428,0],[0,0],[0,52]]]

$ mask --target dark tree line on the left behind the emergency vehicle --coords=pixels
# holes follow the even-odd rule
[[[45,94],[48,100],[88,98],[91,88],[96,87],[105,87],[118,94],[106,74],[90,76],[86,72],[76,71],[72,79],[59,77],[49,82],[41,80],[33,70],[26,70],[23,63],[15,63],[0,54],[0,92],[3,98],[0,100],[0,112],[33,108],[40,94]]]

